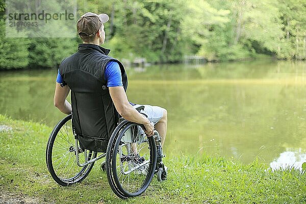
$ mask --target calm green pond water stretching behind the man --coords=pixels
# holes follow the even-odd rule
[[[127,69],[130,101],[168,110],[168,154],[306,161],[306,63],[239,63]],[[0,72],[0,113],[54,126],[57,70]],[[1,123],[1,121],[0,121]],[[48,135],[46,135],[47,141]]]

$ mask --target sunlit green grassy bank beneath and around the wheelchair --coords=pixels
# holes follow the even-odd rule
[[[42,203],[306,203],[305,173],[272,172],[258,161],[245,165],[206,155],[168,154],[168,180],[155,178],[142,196],[128,200],[113,194],[101,161],[82,183],[60,187],[45,165],[52,129],[3,115],[0,127],[0,192],[11,197]]]

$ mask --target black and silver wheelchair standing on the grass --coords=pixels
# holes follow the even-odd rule
[[[101,154],[80,146],[71,119],[72,114],[54,127],[46,146],[46,165],[59,185],[83,181],[94,163],[102,158],[106,159],[101,169],[106,171],[113,192],[122,199],[142,194],[155,174],[160,182],[167,179],[161,137],[157,131],[148,137],[143,125],[121,119],[106,152]]]

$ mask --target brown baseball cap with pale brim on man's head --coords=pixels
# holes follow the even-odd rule
[[[110,17],[105,14],[95,14],[92,12],[87,12],[82,15],[77,22],[78,34],[81,38],[91,37],[95,35],[101,28],[102,23],[107,22]]]

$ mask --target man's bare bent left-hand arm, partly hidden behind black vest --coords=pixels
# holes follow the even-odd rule
[[[54,106],[65,114],[70,114],[72,112],[71,104],[66,100],[69,91],[70,88],[68,86],[61,87],[59,83],[56,83]]]

